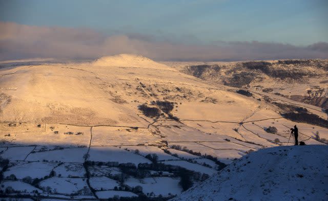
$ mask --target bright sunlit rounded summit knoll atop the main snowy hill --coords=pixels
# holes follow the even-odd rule
[[[150,68],[150,69],[159,69],[159,70],[171,70],[171,67],[153,61],[150,58],[134,55],[134,54],[118,54],[112,56],[104,56],[96,59],[93,62],[94,66],[119,66],[119,67],[130,67],[130,68]]]

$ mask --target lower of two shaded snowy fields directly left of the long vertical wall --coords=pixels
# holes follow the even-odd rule
[[[39,185],[43,189],[46,189],[46,187],[49,186],[52,192],[63,194],[77,193],[85,187],[88,188],[87,180],[85,178],[51,177],[40,182]]]

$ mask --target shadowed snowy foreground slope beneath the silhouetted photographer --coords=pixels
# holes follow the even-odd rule
[[[282,146],[246,155],[173,200],[328,200],[328,147]]]

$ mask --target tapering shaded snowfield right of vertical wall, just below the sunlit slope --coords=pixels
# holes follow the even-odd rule
[[[89,161],[118,162],[118,163],[151,163],[148,159],[118,147],[91,147]]]

